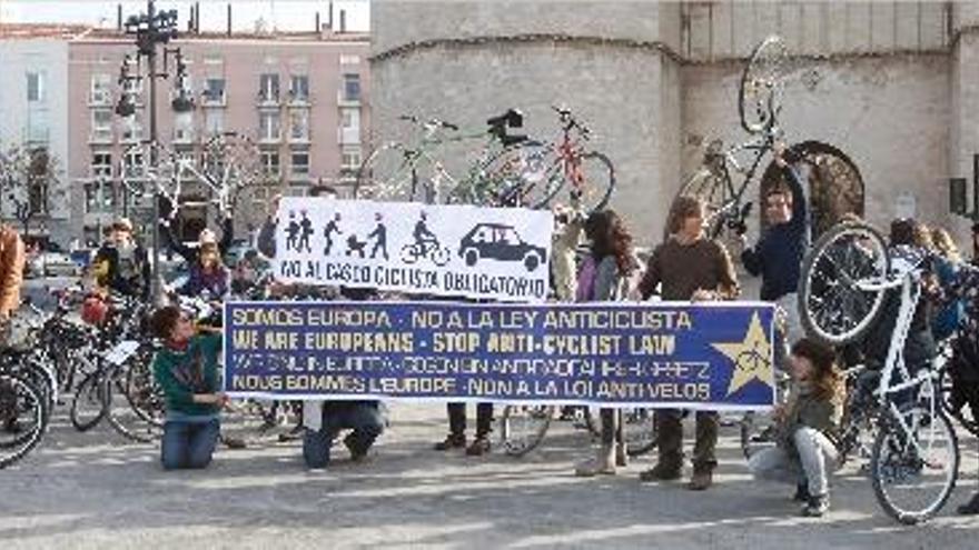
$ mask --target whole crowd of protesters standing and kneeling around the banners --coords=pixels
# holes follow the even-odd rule
[[[764,196],[765,229],[756,242],[745,239],[732,258],[721,241],[704,232],[704,206],[695,198],[678,198],[669,213],[666,237],[655,247],[645,266],[636,260],[633,237],[624,220],[612,210],[586,218],[563,220],[564,228],[555,246],[554,281],[560,299],[578,302],[645,300],[659,296],[663,300],[713,301],[733,300],[741,296],[735,260],[751,276],[761,278],[763,301],[780,306],[780,340],[777,367],[792,378],[788,400],[773,413],[775,448],[753,456],[751,471],[760,479],[773,479],[797,487],[794,499],[808,516],[821,516],[830,506],[829,478],[834,470],[834,438],[842,413],[844,389],[839,361],[853,360],[853,350],[834,350],[808,338],[797,308],[795,290],[800,266],[810,246],[810,212],[804,184],[790,164],[777,156],[781,183]],[[271,201],[271,209],[275,209]],[[278,220],[270,212],[258,238],[259,252],[275,256],[275,231]],[[222,257],[233,240],[230,218],[221,222],[221,238],[215,231],[200,232],[196,246],[175,238],[165,223],[165,242],[185,259],[186,282],[174,291],[188,296],[207,296],[226,300],[236,281],[256,278],[250,261],[239,262],[231,271]],[[570,250],[583,234],[587,253],[573,263]],[[96,254],[92,276],[99,287],[112,292],[148,300],[150,298],[150,261],[146,250],[132,237],[132,224],[118,220]],[[558,242],[557,240],[555,242]],[[953,371],[957,399],[979,410],[979,223],[972,227],[972,267],[959,254],[948,231],[929,229],[913,220],[896,220],[891,226],[890,246],[896,258],[919,256],[928,261],[924,296],[914,314],[911,334],[904,344],[904,357],[912,369],[924,368],[934,358],[936,340],[956,339]],[[254,254],[254,252],[253,252]],[[254,257],[253,257],[254,258]],[[20,268],[18,268],[18,261]],[[0,227],[0,318],[9,318],[16,308],[22,272],[23,244],[10,227]],[[574,267],[574,266],[577,267]],[[244,266],[244,268],[243,268]],[[639,281],[634,283],[634,281]],[[247,284],[248,281],[246,281]],[[340,289],[339,296],[364,299],[370,290]],[[894,300],[884,306],[888,314],[862,346],[868,363],[882,363],[896,316]],[[149,328],[164,342],[154,360],[154,374],[166,398],[161,463],[166,469],[204,468],[214,454],[220,437],[220,410],[228,397],[219,390],[217,363],[220,334],[201,331],[194,319],[177,306],[157,309]],[[971,343],[971,347],[969,346]],[[476,432],[466,439],[466,406],[449,403],[448,436],[435,444],[439,451],[466,449],[469,456],[491,450],[493,428],[492,403],[476,407]],[[593,456],[575,466],[583,477],[615,474],[626,466],[623,420],[620,411],[603,408],[600,413],[599,444]],[[657,433],[656,463],[642,471],[643,482],[678,480],[685,463],[683,419],[681,410],[657,409],[654,423]],[[713,483],[718,464],[716,444],[719,414],[698,411],[692,453],[693,470],[688,483],[691,490],[708,490]],[[333,442],[344,430],[350,433],[343,442],[354,460],[368,456],[378,436],[387,427],[386,409],[377,401],[307,402],[303,408],[303,458],[309,468],[325,468],[330,461]],[[979,493],[962,513],[979,513]]]

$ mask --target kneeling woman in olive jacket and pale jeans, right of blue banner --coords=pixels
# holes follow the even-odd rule
[[[831,348],[803,338],[792,347],[793,388],[784,409],[775,410],[778,447],[748,462],[755,477],[797,483],[794,500],[804,516],[829,509],[829,473],[839,467],[832,436],[843,413],[844,389]]]

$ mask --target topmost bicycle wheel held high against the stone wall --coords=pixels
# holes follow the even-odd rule
[[[782,81],[788,52],[782,39],[771,36],[751,52],[738,88],[738,114],[744,130],[767,129],[781,107]]]

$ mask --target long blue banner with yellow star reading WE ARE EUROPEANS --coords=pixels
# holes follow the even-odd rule
[[[753,410],[774,402],[760,302],[229,302],[225,390]]]

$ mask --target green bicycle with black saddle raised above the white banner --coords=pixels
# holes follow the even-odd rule
[[[354,199],[485,204],[485,198],[475,190],[482,188],[479,181],[491,178],[486,167],[527,140],[526,136],[508,132],[523,126],[523,114],[515,109],[490,118],[485,130],[468,133],[456,133],[459,132],[457,124],[437,118],[422,120],[404,114],[398,120],[417,128],[421,133],[417,144],[389,141],[375,149],[357,171]],[[476,139],[485,141],[466,177],[452,176],[436,151],[451,143]]]

